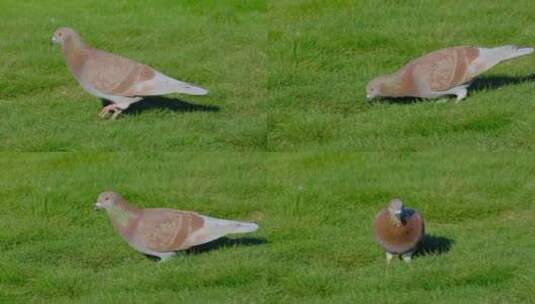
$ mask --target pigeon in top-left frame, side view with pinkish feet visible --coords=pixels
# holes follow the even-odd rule
[[[91,95],[109,101],[99,113],[115,119],[143,96],[182,93],[206,95],[208,91],[175,80],[133,60],[94,49],[71,28],[57,29],[52,43],[61,45],[63,57],[74,78]]]

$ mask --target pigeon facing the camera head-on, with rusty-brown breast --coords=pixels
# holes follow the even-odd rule
[[[416,210],[405,208],[396,198],[375,216],[374,233],[375,240],[385,250],[387,263],[394,255],[400,255],[408,263],[423,240],[424,220]]]

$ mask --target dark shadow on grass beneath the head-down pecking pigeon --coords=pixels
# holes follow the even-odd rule
[[[468,87],[468,94],[477,91],[484,91],[484,90],[496,90],[501,87],[510,86],[510,85],[517,85],[522,84],[525,82],[533,82],[535,81],[535,74],[529,74],[527,76],[506,76],[506,75],[493,75],[493,76],[481,76],[475,78],[470,86]],[[454,99],[454,95],[450,95],[447,97],[441,98],[442,100],[444,98],[448,99]],[[417,102],[423,102],[423,101],[433,101],[438,99],[424,99],[424,98],[418,98],[418,97],[381,97],[378,99],[371,100],[371,103],[386,103],[386,104],[413,104]]]

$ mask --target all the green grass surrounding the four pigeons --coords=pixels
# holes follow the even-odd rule
[[[533,46],[534,19],[527,0],[1,1],[0,303],[535,303],[535,56],[460,104],[364,100],[438,48]],[[210,95],[100,120],[49,45],[65,25]],[[260,229],[157,264],[93,210],[109,189]],[[393,197],[443,250],[385,264]]]

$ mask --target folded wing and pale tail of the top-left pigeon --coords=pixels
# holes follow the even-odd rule
[[[94,89],[114,96],[149,96],[169,93],[205,95],[205,89],[181,82],[153,68],[97,49],[88,51],[81,79]]]

